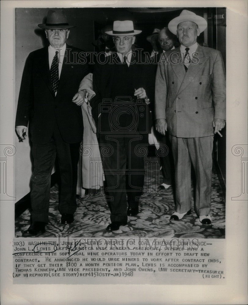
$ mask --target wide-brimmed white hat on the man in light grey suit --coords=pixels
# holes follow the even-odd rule
[[[184,22],[184,21],[192,21],[192,22],[196,23],[198,25],[200,33],[202,33],[205,30],[205,28],[207,27],[207,21],[203,17],[198,16],[191,11],[187,11],[187,9],[184,9],[181,12],[180,16],[172,19],[169,22],[169,24],[168,24],[169,30],[173,34],[176,35],[176,30],[177,30],[178,24],[181,22]]]

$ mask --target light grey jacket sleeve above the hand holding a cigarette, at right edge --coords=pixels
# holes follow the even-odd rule
[[[226,119],[226,78],[221,53],[218,51],[213,64],[211,88],[213,93],[214,118]]]

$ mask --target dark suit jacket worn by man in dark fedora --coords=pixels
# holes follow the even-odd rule
[[[28,126],[29,122],[32,142],[48,142],[55,122],[66,143],[81,142],[82,110],[72,102],[72,98],[78,91],[80,81],[88,73],[82,52],[66,45],[56,96],[50,79],[48,47],[29,54],[20,86],[16,126]]]

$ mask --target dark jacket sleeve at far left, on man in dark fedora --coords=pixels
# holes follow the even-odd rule
[[[33,107],[32,58],[29,54],[22,75],[17,104],[16,125],[28,126],[30,111]]]

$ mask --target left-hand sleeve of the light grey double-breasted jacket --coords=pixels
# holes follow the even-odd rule
[[[155,81],[155,119],[166,119],[166,98],[165,64],[158,63]]]

